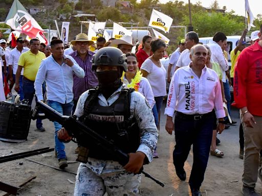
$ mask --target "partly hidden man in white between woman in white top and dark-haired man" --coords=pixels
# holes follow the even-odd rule
[[[167,82],[170,83],[171,78],[174,74],[174,68],[177,65],[178,59],[181,55],[181,53],[186,49],[185,47],[185,39],[181,39],[178,44],[178,48],[176,51],[174,51],[169,59],[169,65],[167,70]]]

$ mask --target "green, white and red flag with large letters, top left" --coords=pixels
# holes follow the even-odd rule
[[[30,37],[36,37],[39,31],[43,33],[39,24],[18,0],[14,0],[5,22],[13,30],[24,33]]]

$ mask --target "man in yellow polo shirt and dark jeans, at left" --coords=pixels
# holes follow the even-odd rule
[[[19,90],[19,78],[21,70],[24,68],[23,77],[23,92],[24,99],[28,100],[28,104],[31,105],[35,94],[34,82],[35,77],[40,66],[42,59],[46,58],[46,55],[39,51],[40,41],[36,38],[30,40],[30,51],[21,54],[18,60],[18,67],[15,75],[15,91]],[[45,91],[45,85],[42,85],[42,90]],[[43,93],[44,94],[44,93]],[[35,97],[37,101],[37,97]],[[41,119],[36,120],[36,131],[45,131],[42,126]]]

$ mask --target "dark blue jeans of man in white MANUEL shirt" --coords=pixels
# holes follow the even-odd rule
[[[193,120],[176,113],[174,118],[176,146],[173,151],[173,164],[176,170],[184,167],[193,144],[193,166],[189,178],[191,189],[199,189],[204,180],[213,134],[213,120],[212,114],[200,120]]]

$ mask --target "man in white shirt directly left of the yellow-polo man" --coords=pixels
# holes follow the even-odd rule
[[[15,84],[15,74],[16,74],[16,70],[18,67],[18,60],[19,57],[21,56],[22,53],[25,53],[27,51],[29,51],[30,49],[28,47],[24,47],[24,38],[23,37],[18,37],[16,39],[16,47],[10,52],[10,56],[9,56],[9,78],[11,81],[10,84],[10,91],[12,90],[14,84]],[[23,72],[24,69],[22,69],[21,71],[21,77],[19,78],[19,90],[18,90],[18,94],[20,95],[20,100],[24,100],[24,93],[23,93]]]

